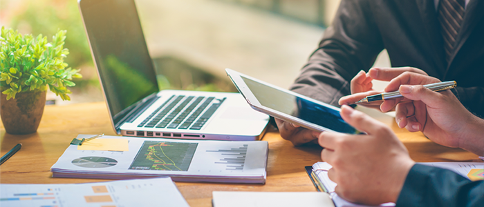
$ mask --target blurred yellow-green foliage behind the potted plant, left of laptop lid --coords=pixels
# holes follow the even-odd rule
[[[76,84],[74,92],[82,93],[88,90],[89,86],[100,88],[77,1],[0,0],[0,12],[6,14],[7,11],[11,14],[4,16],[5,26],[22,33],[53,37],[59,28],[67,30],[68,38],[65,40],[64,48],[70,50],[64,61],[73,68],[82,68],[84,74],[84,78],[73,80]]]

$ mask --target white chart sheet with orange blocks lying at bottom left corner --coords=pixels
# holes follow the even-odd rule
[[[0,184],[0,206],[188,206],[169,177],[89,184]]]

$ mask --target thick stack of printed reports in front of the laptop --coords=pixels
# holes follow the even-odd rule
[[[90,136],[78,136],[85,137]],[[266,182],[267,141],[113,136],[97,139],[111,139],[97,140],[97,143],[113,145],[117,141],[127,141],[129,146],[124,151],[111,151],[71,145],[50,168],[53,177],[129,179],[169,176],[174,181]]]

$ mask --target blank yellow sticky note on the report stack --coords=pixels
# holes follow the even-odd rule
[[[77,150],[128,151],[128,139],[96,138],[77,146]]]

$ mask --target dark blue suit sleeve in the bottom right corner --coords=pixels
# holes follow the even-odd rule
[[[415,164],[396,206],[484,206],[484,181],[470,181],[451,170]]]

